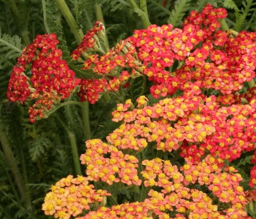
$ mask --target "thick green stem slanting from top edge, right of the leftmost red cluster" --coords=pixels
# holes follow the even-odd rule
[[[71,11],[68,8],[65,0],[56,0],[58,7],[60,8],[61,13],[63,14],[64,18],[66,19],[72,33],[75,36],[75,39],[80,43],[83,39],[83,32],[81,29],[78,29],[78,25],[75,21],[75,18],[71,14]]]

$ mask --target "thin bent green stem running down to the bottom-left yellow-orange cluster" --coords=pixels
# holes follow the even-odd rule
[[[56,118],[68,134],[68,138],[69,138],[70,145],[71,145],[73,162],[74,162],[74,166],[75,166],[75,173],[77,175],[81,176],[82,171],[81,171],[81,166],[80,166],[80,162],[79,162],[78,148],[77,148],[77,144],[76,144],[75,134],[69,130],[68,126],[66,124],[64,124],[64,122],[60,119],[60,117],[57,114],[56,114]]]

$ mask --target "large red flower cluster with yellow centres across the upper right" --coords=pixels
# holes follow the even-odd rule
[[[182,29],[150,25],[147,29],[135,30],[133,36],[103,56],[90,55],[85,60],[85,69],[92,68],[108,82],[109,76],[115,75],[119,81],[115,86],[111,84],[114,91],[120,86],[119,69],[126,68],[132,78],[145,74],[153,81],[155,85],[150,92],[155,98],[173,95],[178,89],[197,95],[202,90],[214,89],[222,94],[220,102],[232,103],[235,101],[233,94],[245,81],[255,77],[256,33],[241,32],[234,37],[232,32],[219,30],[218,19],[226,16],[225,9],[207,4],[200,14],[192,11]],[[96,27],[89,31],[89,35],[92,33],[97,39],[93,45],[100,45]],[[81,45],[78,48],[82,47],[82,51],[91,51],[91,45]],[[98,85],[94,88],[97,90]],[[113,89],[107,90],[113,92]],[[87,99],[89,95],[86,94]]]

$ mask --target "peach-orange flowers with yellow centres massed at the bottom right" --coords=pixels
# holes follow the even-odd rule
[[[156,203],[157,210],[176,210],[179,213],[188,213],[188,218],[242,218],[245,212],[245,193],[239,186],[242,177],[236,172],[234,167],[227,167],[225,172],[221,171],[218,161],[213,156],[208,155],[202,162],[192,164],[187,160],[178,171],[176,165],[171,165],[168,160],[155,158],[144,160],[142,164],[146,166],[142,171],[146,187],[162,187],[158,194],[161,197]],[[202,191],[189,189],[190,184],[206,185],[213,194],[219,198],[220,202],[228,203],[229,207],[223,212],[217,211],[217,205],[212,205],[211,198]],[[150,193],[150,192],[149,192]],[[154,195],[150,195],[156,198]],[[168,208],[166,207],[168,206]],[[172,206],[172,207],[170,207]],[[156,210],[155,210],[156,212]],[[225,216],[224,216],[225,215]],[[185,218],[185,217],[184,217]]]

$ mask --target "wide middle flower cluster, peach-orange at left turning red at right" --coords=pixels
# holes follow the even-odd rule
[[[147,99],[141,96],[137,102],[135,109],[131,100],[117,104],[112,113],[114,122],[124,123],[107,141],[120,149],[138,151],[156,142],[157,150],[171,152],[181,147],[181,157],[193,163],[210,152],[221,166],[225,159],[231,162],[256,148],[255,99],[227,107],[220,107],[214,95],[166,98],[153,106],[146,106]]]

